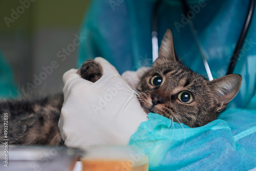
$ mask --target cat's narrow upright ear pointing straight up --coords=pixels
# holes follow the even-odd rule
[[[167,29],[158,52],[157,60],[177,62],[174,51],[173,34]],[[156,61],[157,61],[156,60]]]

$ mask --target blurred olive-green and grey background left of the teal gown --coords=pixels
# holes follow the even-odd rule
[[[29,7],[20,7],[24,7],[23,4]],[[53,60],[59,66],[34,90],[62,90],[62,75],[76,68],[78,48],[64,61],[57,57],[57,53],[73,44],[75,34],[79,35],[79,27],[89,4],[89,0],[0,1],[0,50],[10,64],[20,90],[26,92],[27,83],[33,83],[34,75],[39,76],[44,72],[42,67],[50,66]],[[20,10],[20,14],[8,27],[6,18],[12,19],[13,10]]]

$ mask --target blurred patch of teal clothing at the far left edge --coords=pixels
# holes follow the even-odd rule
[[[11,67],[0,51],[0,99],[17,97],[17,92]]]

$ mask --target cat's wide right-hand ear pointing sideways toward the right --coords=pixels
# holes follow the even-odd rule
[[[218,79],[209,81],[208,84],[213,90],[213,93],[217,95],[217,112],[223,111],[239,92],[241,87],[242,78],[237,74],[230,74]]]

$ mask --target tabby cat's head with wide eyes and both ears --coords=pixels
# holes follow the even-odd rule
[[[146,113],[157,113],[190,127],[217,119],[241,86],[241,76],[230,74],[212,81],[191,71],[175,56],[173,36],[164,34],[159,57],[137,86]]]

